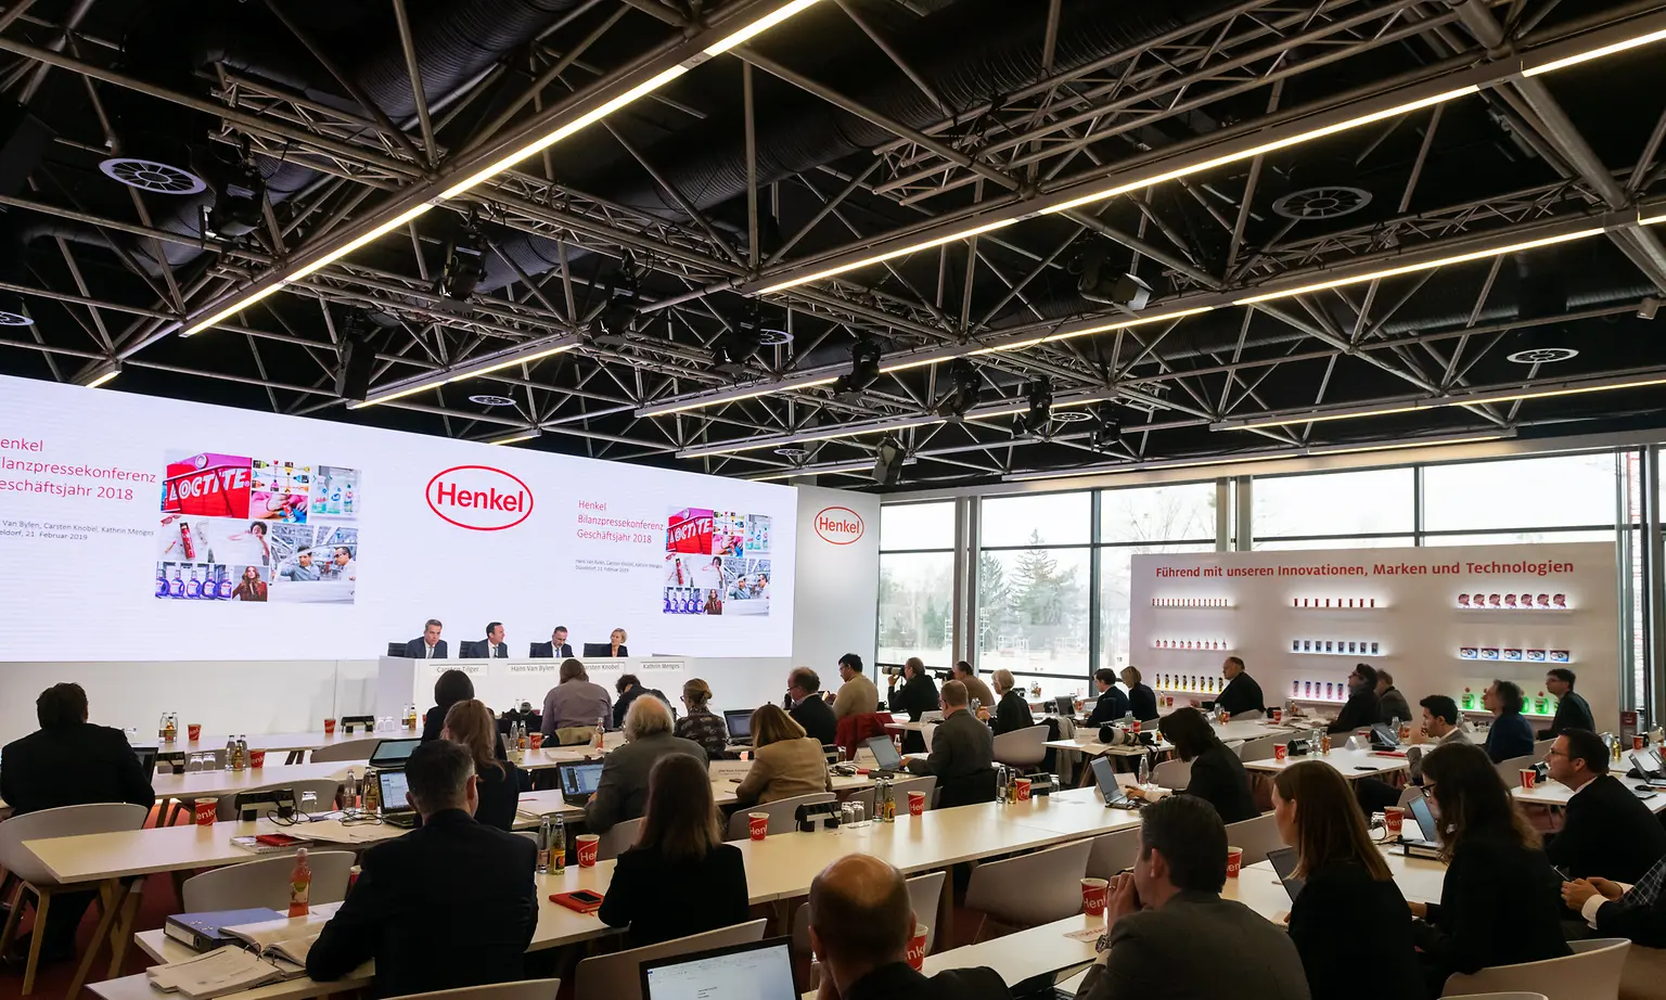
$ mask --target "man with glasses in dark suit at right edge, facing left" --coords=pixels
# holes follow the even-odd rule
[[[1544,853],[1574,878],[1643,878],[1666,855],[1666,828],[1631,788],[1608,773],[1608,747],[1591,730],[1566,730],[1544,755],[1551,780],[1573,788],[1561,830]]]

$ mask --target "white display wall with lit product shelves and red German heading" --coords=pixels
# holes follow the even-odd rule
[[[1136,555],[1130,658],[1176,705],[1218,693],[1226,657],[1269,705],[1319,712],[1346,700],[1354,663],[1393,673],[1414,715],[1434,693],[1486,715],[1481,692],[1504,678],[1536,727],[1554,712],[1544,672],[1568,667],[1614,728],[1614,580],[1613,543]]]

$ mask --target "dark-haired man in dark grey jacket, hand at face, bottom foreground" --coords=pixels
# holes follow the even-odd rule
[[[1235,900],[1226,827],[1190,795],[1140,812],[1133,873],[1111,880],[1106,933],[1078,1000],[1308,1000],[1289,935]],[[1364,978],[1364,975],[1361,975]]]

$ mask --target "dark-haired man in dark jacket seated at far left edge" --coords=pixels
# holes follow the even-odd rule
[[[38,730],[7,743],[0,753],[0,798],[12,807],[12,815],[98,802],[132,802],[150,808],[157,800],[150,775],[140,767],[127,735],[87,722],[82,685],[55,683],[40,692],[35,720]],[[40,938],[42,965],[75,955],[75,928],[97,895],[88,890],[52,897]],[[22,898],[15,905],[22,907]],[[15,952],[27,955],[28,940],[20,940]]]

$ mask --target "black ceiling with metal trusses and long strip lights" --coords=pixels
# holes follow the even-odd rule
[[[721,20],[770,5],[705,7]],[[10,0],[0,315],[30,322],[0,330],[0,372],[88,382],[120,365],[108,390],[470,440],[538,428],[515,447],[738,477],[803,467],[850,487],[890,437],[913,458],[901,488],[1666,423],[1658,385],[1408,410],[1666,380],[1653,318],[1666,225],[1636,223],[1666,215],[1666,42],[1543,77],[1494,72],[1666,27],[1666,3],[1616,0],[820,0],[180,335],[390,218],[466,153],[560,125],[696,13],[681,0]],[[1491,73],[1478,93],[1028,217],[1060,190],[1211,160],[1246,133],[1469,72]],[[120,160],[203,188],[118,183]],[[943,220],[1015,215],[760,293],[953,232],[933,228]],[[1606,232],[1486,253],[1579,218]],[[481,252],[461,297],[445,292],[453,243]],[[1143,307],[1116,305],[1125,273],[1150,287]],[[988,350],[1188,303],[1216,308]],[[523,345],[570,348],[380,405],[343,398],[365,378],[377,400]],[[850,372],[856,345],[881,368],[920,352],[968,360],[860,392],[788,388]],[[965,388],[945,407],[956,368]],[[1040,380],[1051,418],[1016,413]],[[750,398],[705,398],[735,387]],[[1373,403],[1408,412],[1289,422]],[[1221,427],[1250,418],[1271,425]]]

